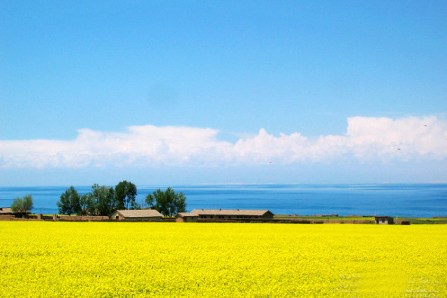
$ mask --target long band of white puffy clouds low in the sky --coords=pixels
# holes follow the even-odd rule
[[[75,140],[0,141],[0,168],[216,167],[358,161],[447,159],[447,121],[434,116],[351,117],[344,135],[316,140],[265,129],[237,142],[212,128],[130,126],[126,132],[80,129]]]

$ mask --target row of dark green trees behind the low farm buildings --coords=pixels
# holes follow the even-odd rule
[[[73,186],[62,193],[57,207],[59,214],[90,216],[110,216],[116,210],[135,210],[145,206],[136,202],[137,188],[129,181],[121,181],[115,188],[110,186],[91,186],[91,191],[80,195]],[[173,216],[186,211],[186,197],[175,193],[172,188],[160,189],[147,195],[147,207],[156,209],[163,216]]]

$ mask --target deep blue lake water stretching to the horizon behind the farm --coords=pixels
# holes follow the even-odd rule
[[[274,214],[447,216],[447,184],[258,184],[172,186],[186,196],[187,209],[269,209]],[[34,213],[57,213],[65,187],[0,187],[0,207],[31,194]],[[90,186],[75,187],[78,193]],[[159,187],[138,186],[138,202]],[[162,190],[166,188],[161,188]]]

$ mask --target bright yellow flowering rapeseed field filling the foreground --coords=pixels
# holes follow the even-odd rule
[[[0,222],[0,297],[447,297],[447,225]]]

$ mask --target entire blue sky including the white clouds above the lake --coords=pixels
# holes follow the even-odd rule
[[[447,181],[445,1],[1,1],[0,186]]]

